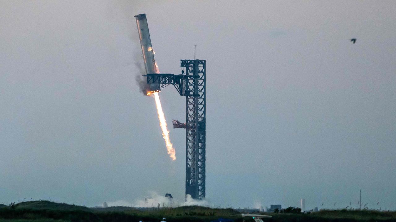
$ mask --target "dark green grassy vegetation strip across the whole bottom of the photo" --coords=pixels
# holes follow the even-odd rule
[[[265,222],[396,222],[396,212],[322,210],[303,214],[298,208],[289,207],[270,214]],[[229,218],[235,222],[253,222],[241,217],[233,209],[209,207],[176,207],[138,210],[132,207],[88,208],[50,201],[29,201],[0,206],[0,222],[159,222],[166,217],[169,222],[209,222],[217,218]]]

